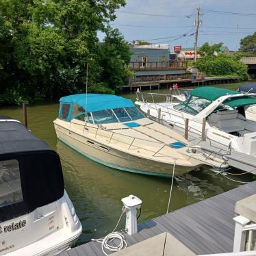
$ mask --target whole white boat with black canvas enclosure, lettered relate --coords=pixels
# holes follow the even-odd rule
[[[59,155],[19,121],[0,116],[0,255],[55,255],[81,231]]]

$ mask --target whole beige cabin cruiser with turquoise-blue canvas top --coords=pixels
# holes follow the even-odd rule
[[[175,131],[146,118],[130,99],[109,94],[75,94],[60,99],[54,121],[57,138],[82,155],[129,172],[162,177],[182,175],[203,164],[227,162],[207,157]]]

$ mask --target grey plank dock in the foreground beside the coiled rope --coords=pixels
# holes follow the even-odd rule
[[[196,255],[231,253],[235,232],[235,221],[233,220],[235,203],[255,193],[256,181],[253,181],[169,214],[146,220],[138,225],[138,233],[124,234],[127,246],[168,232]],[[101,251],[101,244],[93,241],[60,253],[60,255],[103,256],[104,254]]]

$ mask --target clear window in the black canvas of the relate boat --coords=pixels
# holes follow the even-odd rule
[[[0,161],[0,207],[22,201],[18,161],[16,159]]]

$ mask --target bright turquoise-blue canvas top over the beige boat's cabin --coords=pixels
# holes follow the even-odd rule
[[[74,94],[60,98],[60,103],[72,103],[84,108],[87,112],[110,110],[118,107],[134,107],[130,99],[112,94]]]

